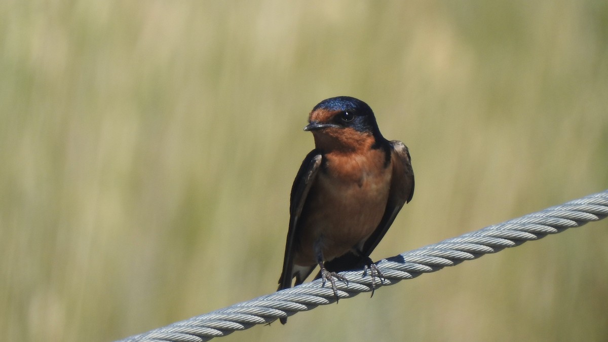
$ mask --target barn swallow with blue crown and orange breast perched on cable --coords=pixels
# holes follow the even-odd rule
[[[291,188],[278,290],[294,277],[302,284],[319,265],[316,278],[330,281],[337,298],[336,279],[345,281],[339,271],[365,267],[372,284],[382,277],[369,256],[412,200],[414,175],[406,145],[382,136],[367,103],[332,97],[314,106],[308,122],[315,148]]]

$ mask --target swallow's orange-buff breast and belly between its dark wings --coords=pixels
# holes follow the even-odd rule
[[[387,203],[392,167],[382,150],[328,153],[302,217],[298,265],[316,263],[313,243],[320,241],[325,261],[347,253],[376,229]]]

